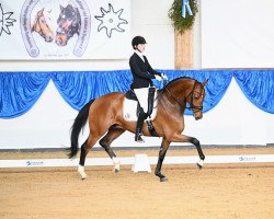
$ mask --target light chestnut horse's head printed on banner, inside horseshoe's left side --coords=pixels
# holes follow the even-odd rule
[[[37,12],[35,15],[34,24],[32,26],[32,32],[37,32],[45,42],[52,42],[54,39],[54,32],[48,26],[47,19],[44,15],[44,8]]]

